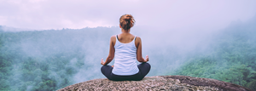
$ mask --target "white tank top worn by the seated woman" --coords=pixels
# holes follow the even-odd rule
[[[116,36],[114,45],[114,63],[112,73],[115,75],[127,76],[137,74],[137,48],[135,46],[135,38],[131,43],[120,43]]]

